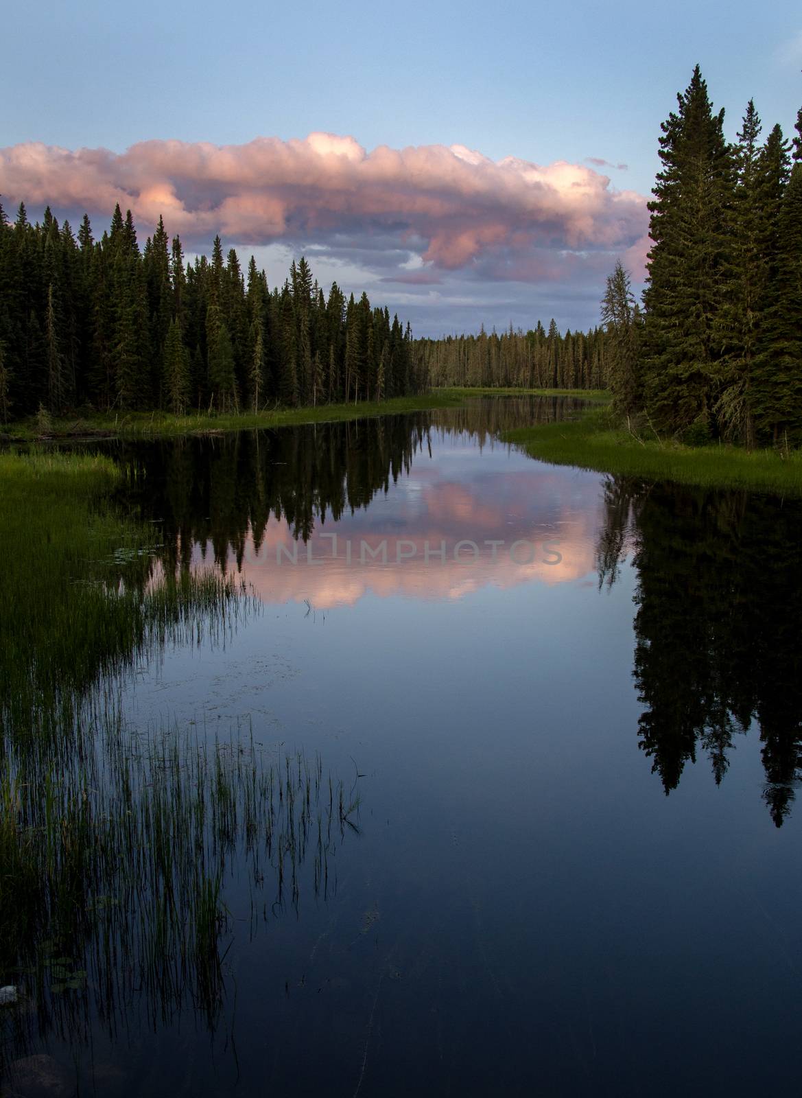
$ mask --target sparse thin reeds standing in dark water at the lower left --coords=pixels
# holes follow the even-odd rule
[[[57,775],[27,766],[0,782],[0,974],[45,1012],[91,990],[111,1018],[144,990],[153,1023],[189,999],[214,1026],[227,881],[247,874],[255,918],[297,908],[304,879],[326,898],[359,805],[343,814],[319,757],[273,758],[244,729],[199,742],[110,720],[103,736]]]

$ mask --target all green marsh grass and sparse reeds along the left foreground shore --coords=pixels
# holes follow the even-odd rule
[[[125,722],[137,669],[225,643],[259,603],[170,570],[117,509],[120,477],[97,456],[0,456],[0,983],[21,990],[0,1075],[36,1031],[81,1041],[90,999],[110,1030],[143,997],[153,1024],[190,1001],[214,1027],[227,884],[247,874],[252,930],[305,887],[325,898],[358,830],[358,798],[317,757],[272,757],[249,726]]]

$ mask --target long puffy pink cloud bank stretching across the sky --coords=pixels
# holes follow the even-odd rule
[[[15,145],[0,149],[0,192],[103,219],[118,202],[143,228],[161,213],[190,245],[215,233],[251,245],[381,234],[417,248],[429,270],[486,259],[517,262],[531,280],[562,266],[528,265],[534,249],[555,260],[640,256],[647,227],[646,200],[585,165],[494,161],[460,145],[368,153],[353,137],[321,133],[227,146],[148,141],[123,154]]]

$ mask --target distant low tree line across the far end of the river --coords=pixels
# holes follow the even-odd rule
[[[529,332],[487,333],[418,339],[418,357],[432,385],[487,385],[524,389],[606,389],[607,333],[561,335],[552,318]]]

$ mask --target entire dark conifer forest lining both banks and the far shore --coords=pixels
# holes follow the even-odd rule
[[[600,325],[414,339],[308,264],[268,287],[251,256],[187,262],[163,222],[140,249],[120,206],[100,240],[0,206],[0,422],[78,408],[223,413],[430,386],[606,389],[633,434],[802,442],[802,110],[793,141],[750,100],[735,143],[699,67],[662,124],[646,287],[621,262]]]

